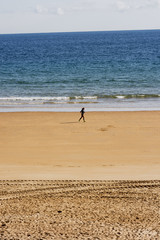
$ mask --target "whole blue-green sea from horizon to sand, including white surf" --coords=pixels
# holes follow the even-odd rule
[[[160,110],[160,30],[0,35],[0,111]]]

